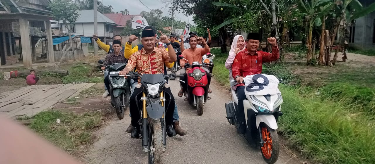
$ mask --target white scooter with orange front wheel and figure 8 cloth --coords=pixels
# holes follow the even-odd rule
[[[246,132],[243,136],[251,146],[260,146],[263,159],[269,164],[275,163],[279,157],[280,143],[276,130],[278,118],[282,116],[283,99],[278,89],[280,81],[272,75],[246,76],[244,82],[247,100],[243,100],[244,109],[238,109],[234,89],[231,89],[233,101],[225,104],[226,118],[236,128],[240,125],[237,123],[239,110],[245,111]]]

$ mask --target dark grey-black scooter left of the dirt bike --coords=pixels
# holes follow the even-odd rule
[[[103,60],[99,60],[98,63],[103,64]],[[124,63],[115,63],[108,65],[110,88],[108,92],[111,95],[111,104],[116,110],[118,119],[124,118],[124,112],[129,106],[131,88],[130,79],[118,76],[118,73],[125,68]]]

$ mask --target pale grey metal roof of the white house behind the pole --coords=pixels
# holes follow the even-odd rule
[[[80,16],[78,17],[78,20],[76,23],[92,23],[94,22],[94,10],[81,10],[78,11],[80,13]],[[111,24],[116,24],[114,21],[112,21],[110,18],[107,18],[107,16],[104,16],[102,13],[98,12],[98,23],[107,22]]]

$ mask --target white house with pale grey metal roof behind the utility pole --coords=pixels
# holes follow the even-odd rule
[[[74,25],[71,25],[72,34],[92,37],[94,34],[94,10],[78,11],[80,16]],[[119,26],[107,16],[98,12],[98,37],[107,43],[107,39],[112,39],[113,28]],[[60,23],[60,29],[63,33],[68,34],[65,24]]]

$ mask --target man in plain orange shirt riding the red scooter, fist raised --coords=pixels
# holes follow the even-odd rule
[[[202,45],[204,45],[204,48],[196,48],[196,45],[198,45],[197,40],[198,40],[197,36],[191,35],[190,39],[189,39],[190,48],[185,49],[185,51],[182,52],[182,56],[189,62],[189,64],[192,64],[194,61],[198,61],[199,63],[202,63],[203,55],[210,52],[210,48],[208,47],[207,43],[203,40],[202,37],[199,37],[199,40],[202,40]],[[183,59],[180,60],[180,66],[182,68],[185,66],[186,60],[183,60]],[[207,87],[209,87],[210,82],[211,82],[210,71],[206,70],[204,68],[202,68],[202,69],[205,70],[205,72],[206,72],[207,80],[208,80],[208,86]],[[181,69],[181,71],[184,71],[184,70],[185,69]],[[186,73],[189,72],[189,70],[191,70],[191,68],[186,68],[186,72],[183,74],[184,77],[180,78],[180,80],[182,80],[182,81],[187,80],[187,74]],[[178,92],[178,97],[182,97],[184,89],[187,88],[187,83],[183,83],[183,82],[180,82],[180,83],[181,83],[182,88]]]

